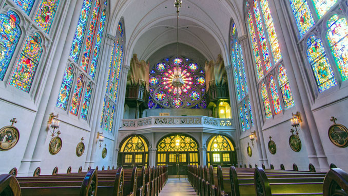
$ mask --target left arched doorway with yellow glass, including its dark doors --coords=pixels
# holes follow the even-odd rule
[[[119,166],[132,168],[148,166],[148,142],[142,135],[131,135],[121,142]]]

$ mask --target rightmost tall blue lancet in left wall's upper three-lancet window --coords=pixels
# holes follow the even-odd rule
[[[96,66],[98,65],[100,48],[101,48],[101,44],[102,44],[102,40],[103,40],[105,20],[106,20],[106,8],[104,8],[102,16],[100,18],[99,29],[98,29],[98,33],[96,33],[96,41],[95,41],[95,45],[94,45],[94,49],[93,49],[93,55],[92,55],[93,59],[92,59],[90,69],[89,69],[89,76],[93,80],[95,77]]]

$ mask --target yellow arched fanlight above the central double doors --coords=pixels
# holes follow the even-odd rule
[[[163,138],[158,146],[158,152],[183,152],[198,151],[198,145],[194,139],[185,135],[171,135]]]

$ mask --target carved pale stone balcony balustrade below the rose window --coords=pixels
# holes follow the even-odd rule
[[[147,128],[207,128],[220,131],[235,129],[231,118],[211,118],[206,116],[151,116],[139,119],[122,119],[122,130]]]

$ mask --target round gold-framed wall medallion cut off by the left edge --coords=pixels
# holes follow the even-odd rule
[[[0,150],[7,151],[16,146],[20,132],[16,127],[6,126],[0,129]]]

